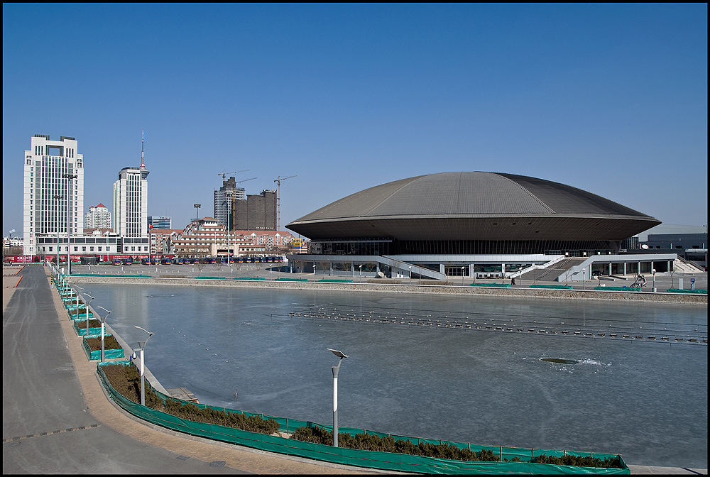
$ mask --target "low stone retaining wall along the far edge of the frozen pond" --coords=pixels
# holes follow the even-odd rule
[[[521,298],[553,298],[562,300],[603,300],[662,302],[687,305],[708,304],[707,295],[667,292],[604,292],[596,290],[555,290],[541,288],[460,287],[441,285],[393,285],[378,283],[275,282],[268,280],[209,280],[193,278],[148,277],[69,277],[70,282],[115,283],[121,285],[177,285],[242,288],[283,288],[289,290],[336,290],[341,292],[433,293],[441,295],[488,295]]]

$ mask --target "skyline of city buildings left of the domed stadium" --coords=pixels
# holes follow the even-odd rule
[[[190,235],[197,226],[201,230],[214,229],[213,232],[221,226],[222,238],[226,238],[226,226],[212,217],[198,217],[184,229],[172,229],[171,217],[148,216],[150,171],[146,169],[143,152],[140,167],[127,166],[119,171],[118,180],[113,184],[113,214],[101,202],[89,207],[84,214],[84,157],[77,150],[78,141],[70,136],[61,136],[59,141],[52,141],[46,134],[35,134],[31,138],[31,149],[25,151],[23,158],[23,237],[16,238],[22,243],[23,255],[171,253],[173,241],[178,236]],[[251,252],[288,246],[293,236],[275,231],[276,191],[263,190],[261,194],[247,196],[244,187],[236,187],[237,182],[244,181],[230,177],[214,196],[216,206],[222,197],[230,199],[229,206],[235,206],[224,210],[231,212],[231,220],[228,214],[223,214],[231,229],[238,228],[242,232],[241,235],[234,231],[229,234],[234,241],[230,250],[239,250],[240,242],[244,245],[242,251]],[[224,206],[226,201],[220,204]],[[158,237],[151,229],[165,234]],[[205,234],[194,232],[196,238]],[[226,245],[219,242],[217,235],[212,234],[208,253],[217,253],[222,248],[226,253]],[[245,248],[247,244],[249,248]]]

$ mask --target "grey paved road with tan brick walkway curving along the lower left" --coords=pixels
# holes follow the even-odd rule
[[[136,420],[107,399],[41,265],[3,312],[3,473],[361,473]]]

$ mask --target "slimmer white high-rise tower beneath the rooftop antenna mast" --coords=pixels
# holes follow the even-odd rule
[[[114,232],[121,237],[148,237],[148,169],[123,168],[114,182]]]

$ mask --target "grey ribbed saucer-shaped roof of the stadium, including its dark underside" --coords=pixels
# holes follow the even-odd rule
[[[652,216],[549,180],[442,172],[370,187],[287,225],[312,239],[623,240]]]

